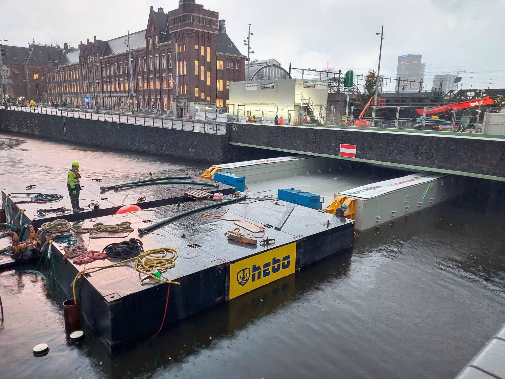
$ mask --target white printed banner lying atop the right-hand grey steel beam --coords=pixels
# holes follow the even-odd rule
[[[345,195],[351,198],[369,199],[396,191],[397,189],[407,188],[411,185],[429,183],[430,181],[439,179],[443,176],[446,175],[417,173],[403,176],[401,178],[379,181],[377,183],[348,189],[347,191],[340,192],[339,195]]]

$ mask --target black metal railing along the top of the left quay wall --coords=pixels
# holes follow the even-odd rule
[[[224,134],[224,135],[228,134],[227,125],[225,123],[216,121],[200,121],[200,120],[176,118],[176,117],[101,112],[91,109],[88,110],[88,109],[61,108],[61,107],[53,108],[53,107],[41,107],[41,106],[32,107],[30,105],[15,105],[15,104],[12,104],[9,109],[22,112],[51,114],[55,116],[85,118],[97,121],[119,122],[130,125],[180,129],[186,131],[195,131],[199,133],[203,132],[203,133]]]

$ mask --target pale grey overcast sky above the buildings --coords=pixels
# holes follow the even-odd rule
[[[395,77],[399,55],[422,54],[425,83],[457,73],[469,88],[505,88],[505,0],[197,0],[219,12],[242,54],[251,23],[251,59],[275,57],[293,67],[357,74],[377,68],[384,25],[381,75]],[[56,44],[111,39],[145,29],[149,7],[175,9],[177,0],[0,0],[0,39]],[[464,72],[466,70],[466,72]],[[429,88],[428,88],[429,89]]]

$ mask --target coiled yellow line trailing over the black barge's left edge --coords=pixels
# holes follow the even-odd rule
[[[169,258],[166,258],[167,254],[171,253],[172,256]],[[175,260],[178,257],[177,250],[172,249],[172,248],[160,248],[160,249],[152,249],[152,250],[147,250],[144,251],[143,253],[139,254],[136,257],[125,259],[124,261],[117,262],[117,263],[112,263],[106,266],[96,266],[96,267],[89,267],[85,268],[81,272],[77,274],[77,276],[74,279],[74,282],[72,283],[72,291],[74,293],[74,304],[77,304],[77,296],[75,294],[75,286],[77,284],[77,279],[79,279],[80,276],[82,276],[86,271],[89,270],[94,270],[94,269],[102,269],[102,268],[108,268],[108,267],[114,267],[122,263],[126,263],[128,261],[135,261],[135,269],[138,272],[141,272],[143,274],[149,275],[152,278],[155,278],[157,280],[163,281],[164,283],[172,283],[176,285],[180,285],[179,282],[177,281],[170,281],[166,280],[163,278],[156,277],[151,273],[154,268],[157,268],[159,272],[163,272],[168,270],[169,268],[172,268],[175,266]]]

